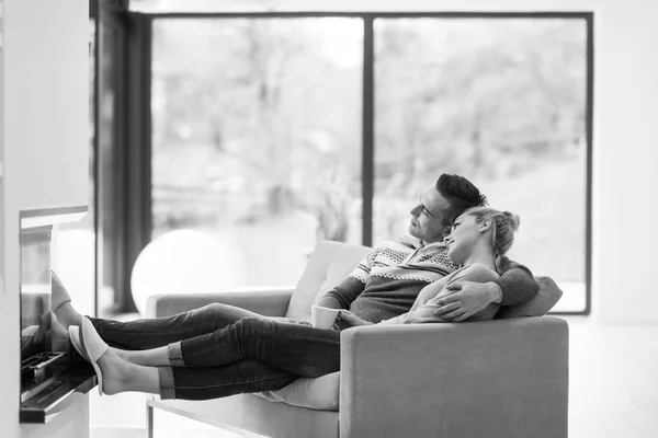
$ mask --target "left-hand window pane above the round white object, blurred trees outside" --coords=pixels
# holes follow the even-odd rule
[[[360,243],[362,50],[356,19],[156,20],[152,238],[214,239],[226,287],[294,285],[317,240]]]

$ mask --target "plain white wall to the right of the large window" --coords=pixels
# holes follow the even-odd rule
[[[658,324],[658,2],[604,4],[597,28],[594,315]]]

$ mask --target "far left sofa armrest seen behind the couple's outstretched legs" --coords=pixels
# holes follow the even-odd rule
[[[169,316],[215,302],[229,304],[265,316],[283,316],[294,287],[240,288],[222,292],[151,295],[146,318]]]

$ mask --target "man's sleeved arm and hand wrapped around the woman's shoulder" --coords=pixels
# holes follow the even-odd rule
[[[435,313],[449,321],[461,322],[491,303],[517,306],[530,301],[540,289],[532,272],[515,262],[503,257],[499,265],[502,275],[495,281],[477,284],[457,281],[449,289],[453,295],[441,298]]]

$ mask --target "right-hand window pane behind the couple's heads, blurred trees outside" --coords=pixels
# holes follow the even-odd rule
[[[375,20],[373,242],[405,232],[443,173],[517,212],[510,256],[585,310],[587,23]]]

